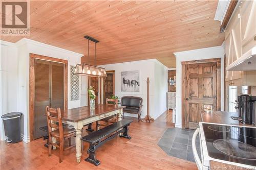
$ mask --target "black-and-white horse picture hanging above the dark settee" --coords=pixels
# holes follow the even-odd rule
[[[121,91],[140,91],[140,73],[139,70],[121,72]]]

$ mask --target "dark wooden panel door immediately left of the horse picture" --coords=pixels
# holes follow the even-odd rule
[[[115,94],[115,72],[106,72],[108,77],[103,79],[103,103],[106,98],[110,99],[111,95]]]

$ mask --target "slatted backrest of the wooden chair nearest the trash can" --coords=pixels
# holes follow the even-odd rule
[[[61,119],[61,111],[60,108],[54,109],[49,106],[46,107],[47,113],[47,124],[48,124],[48,132],[49,136],[53,130],[59,131],[59,137],[63,138],[63,126]]]

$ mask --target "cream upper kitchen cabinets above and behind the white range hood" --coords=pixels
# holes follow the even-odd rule
[[[226,67],[256,45],[256,1],[241,1],[225,30]],[[255,86],[256,71],[226,71],[229,86]]]

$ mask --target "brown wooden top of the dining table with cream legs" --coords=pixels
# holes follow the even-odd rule
[[[122,108],[125,108],[125,106],[98,104],[95,106],[95,110],[90,110],[90,106],[77,107],[73,109],[68,109],[66,112],[63,112],[62,120],[79,122],[90,117],[94,117]]]

